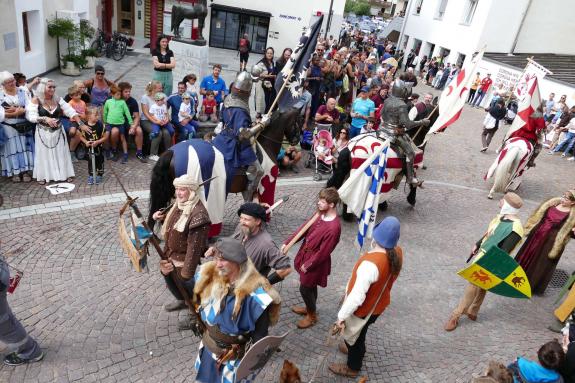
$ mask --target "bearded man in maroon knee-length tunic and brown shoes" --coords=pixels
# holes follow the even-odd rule
[[[339,202],[337,190],[333,187],[322,189],[318,197],[317,216],[314,215],[317,219],[300,238],[303,242],[294,260],[295,269],[300,276],[299,291],[305,303],[303,307],[292,307],[292,311],[296,314],[305,315],[297,323],[300,329],[311,327],[317,322],[317,286],[327,286],[327,277],[331,272],[331,253],[337,246],[341,234],[341,224],[336,210]],[[286,253],[287,244],[305,225],[284,242],[282,253]]]

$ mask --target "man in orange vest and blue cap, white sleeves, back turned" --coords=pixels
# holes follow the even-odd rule
[[[362,255],[353,268],[336,322],[336,326],[344,330],[345,343],[339,345],[339,350],[347,354],[347,363],[330,364],[334,374],[350,378],[359,375],[367,330],[389,305],[391,288],[401,271],[403,253],[397,246],[399,229],[399,220],[395,217],[381,221],[373,230],[372,249]],[[363,326],[354,325],[352,329],[352,323],[362,322]]]

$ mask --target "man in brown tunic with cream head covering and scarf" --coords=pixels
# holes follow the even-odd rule
[[[200,263],[201,256],[208,248],[208,231],[210,217],[204,204],[197,194],[198,183],[187,174],[174,180],[176,187],[176,202],[167,215],[162,210],[154,213],[153,218],[164,221],[162,234],[164,236],[164,252],[170,261],[160,261],[160,264],[171,263],[176,268],[186,288],[193,290],[193,277]],[[184,298],[178,291],[170,276],[164,276],[166,285],[176,298],[167,304],[166,311],[181,310],[186,307]],[[179,324],[180,329],[188,327],[188,321]]]

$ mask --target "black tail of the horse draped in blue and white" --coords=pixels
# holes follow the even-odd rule
[[[150,225],[151,228],[154,227],[154,220],[152,219],[154,212],[168,206],[176,191],[173,185],[173,172],[170,171],[173,155],[173,151],[166,150],[152,169],[150,209],[148,213],[148,225]]]

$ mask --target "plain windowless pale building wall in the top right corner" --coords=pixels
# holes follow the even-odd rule
[[[573,0],[532,0],[515,52],[575,55],[574,10]]]

